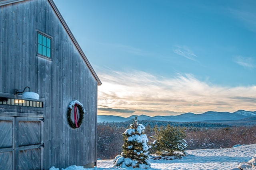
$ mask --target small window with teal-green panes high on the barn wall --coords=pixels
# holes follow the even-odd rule
[[[38,33],[37,53],[46,57],[51,57],[51,39]]]

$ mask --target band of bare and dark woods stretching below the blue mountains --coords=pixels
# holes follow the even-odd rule
[[[168,121],[140,121],[145,125],[145,134],[150,143],[153,143],[157,135],[154,127],[162,128],[179,127],[184,130],[184,139],[187,148],[190,149],[213,149],[229,148],[237,144],[256,143],[256,126],[236,127],[222,123],[203,122],[168,122]],[[129,127],[131,121],[118,123],[98,123],[97,151],[98,158],[113,159],[122,151],[122,133]],[[159,135],[158,135],[159,137]]]

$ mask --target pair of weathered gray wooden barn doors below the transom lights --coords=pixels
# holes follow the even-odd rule
[[[0,169],[42,169],[42,130],[39,117],[0,117]]]

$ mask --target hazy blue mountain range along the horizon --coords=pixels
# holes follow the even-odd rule
[[[98,115],[98,122],[122,122],[130,121],[137,115],[131,115],[130,117],[121,117],[114,115]],[[238,110],[234,113],[230,112],[217,112],[207,111],[202,114],[184,113],[175,116],[154,116],[147,115],[137,116],[138,120],[156,120],[156,121],[176,121],[176,122],[193,122],[193,121],[237,121],[240,119],[246,119],[250,117],[256,117],[256,111]]]

